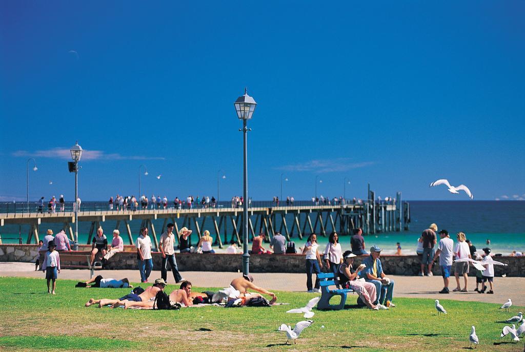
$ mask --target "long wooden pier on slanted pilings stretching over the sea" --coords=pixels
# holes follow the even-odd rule
[[[342,206],[249,208],[248,237],[251,241],[254,236],[263,232],[269,240],[276,232],[281,232],[288,240],[293,237],[302,239],[303,236],[309,236],[311,233],[318,233],[321,236],[327,236],[332,231],[349,234],[356,227],[362,228],[365,234],[403,231],[408,230],[409,209],[407,202],[401,202],[401,193],[397,194],[395,204],[368,200],[363,204]],[[91,222],[88,243],[91,242],[96,229],[102,223],[113,220],[116,221],[116,229],[120,230],[124,227],[129,243],[133,244],[130,222],[140,220],[141,227],[149,229],[155,248],[158,248],[160,234],[165,231],[167,223],[170,222],[175,225],[176,232],[182,227],[187,227],[192,229],[193,234],[199,238],[206,227],[212,234],[215,233],[215,244],[222,248],[223,243],[229,243],[231,240],[238,244],[242,242],[244,228],[242,211],[242,208],[79,211],[78,220],[79,222]],[[153,223],[153,220],[158,219],[163,220],[160,229],[156,229]],[[29,225],[27,243],[38,243],[38,226],[41,223],[62,223],[64,230],[73,240],[74,234],[71,225],[74,222],[74,212],[0,214],[0,226],[8,224]]]

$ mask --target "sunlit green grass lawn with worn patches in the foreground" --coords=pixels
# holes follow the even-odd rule
[[[497,304],[440,300],[449,314],[438,316],[434,300],[396,298],[397,307],[390,311],[315,310],[314,324],[297,345],[287,346],[285,333],[277,328],[304,320],[285,312],[304,306],[312,294],[278,292],[278,302],[290,305],[262,308],[124,311],[84,304],[90,297],[118,298],[129,289],[77,289],[75,283],[58,280],[53,296],[46,293],[43,279],[0,278],[0,350],[448,352],[469,346],[471,325],[476,326],[479,351],[523,350],[523,342],[499,337],[504,324],[497,323],[523,307],[506,313]],[[168,293],[173,289],[166,287]],[[199,290],[203,288],[193,287]],[[351,295],[347,303],[355,304],[356,297]]]

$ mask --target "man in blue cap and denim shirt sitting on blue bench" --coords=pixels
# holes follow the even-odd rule
[[[371,282],[375,285],[375,289],[380,293],[379,299],[373,302],[374,305],[380,305],[387,308],[395,307],[392,302],[394,296],[394,280],[387,278],[383,272],[383,266],[379,259],[382,249],[377,246],[370,248],[370,255],[363,260],[362,264],[366,265],[366,268],[361,270],[361,278],[364,278],[366,282]]]

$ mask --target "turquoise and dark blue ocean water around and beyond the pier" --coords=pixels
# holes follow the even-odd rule
[[[99,204],[103,203],[99,202]],[[409,224],[409,231],[366,235],[366,246],[370,247],[376,244],[384,249],[385,254],[389,254],[395,253],[396,242],[400,242],[403,254],[414,254],[417,239],[421,232],[428,228],[430,223],[436,223],[438,229],[448,230],[453,240],[456,239],[455,234],[457,232],[465,232],[467,238],[478,249],[488,246],[493,253],[509,254],[513,250],[525,252],[525,201],[410,201],[410,205],[411,223]],[[182,226],[182,221],[183,219],[178,220],[179,227]],[[140,222],[140,220],[130,222],[133,239],[138,237]],[[287,218],[287,222],[290,228],[292,218]],[[159,237],[162,223],[163,220],[154,221]],[[89,222],[79,223],[80,243],[86,243],[90,225]],[[104,232],[110,237],[116,222],[106,221],[101,225]],[[202,230],[209,230],[212,237],[215,237],[211,221],[206,222],[205,225]],[[53,229],[56,233],[61,227],[61,223],[43,223],[40,225],[39,233],[45,233],[48,228]],[[280,221],[277,222],[276,227],[279,229]],[[338,228],[337,223],[336,228]],[[0,236],[2,236],[3,243],[18,243],[20,233],[22,242],[25,243],[28,231],[28,226],[6,225],[0,227]],[[121,225],[120,231],[124,242],[128,243],[123,225]],[[227,241],[229,241],[232,238],[232,228],[229,223],[227,233]],[[222,234],[222,239],[224,243],[224,234]],[[490,245],[486,244],[487,239],[490,239]],[[297,247],[301,247],[306,242],[306,237],[300,240],[295,234],[293,241],[296,242]],[[318,241],[324,248],[328,239],[319,236]],[[197,243],[196,234],[192,235],[192,242],[194,245]],[[340,242],[343,250],[350,249],[349,236],[341,236]],[[215,249],[218,248],[215,247]]]

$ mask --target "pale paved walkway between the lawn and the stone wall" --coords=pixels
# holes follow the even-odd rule
[[[35,272],[35,264],[0,262],[0,276],[21,276],[24,278],[44,278],[44,274]],[[98,270],[97,275],[104,278],[128,278],[131,282],[140,282],[138,270]],[[181,273],[186,280],[199,287],[225,287],[240,274],[234,272],[185,271]],[[152,280],[160,277],[160,271],[153,271]],[[395,280],[394,297],[416,297],[448,299],[457,301],[477,301],[503,304],[508,298],[514,305],[525,306],[525,278],[495,278],[495,294],[479,294],[477,292],[451,292],[438,294],[443,288],[440,276],[389,276]],[[89,279],[88,270],[62,270],[60,279],[85,281]],[[276,291],[306,291],[306,275],[291,273],[254,273],[254,283],[269,290]],[[455,287],[455,279],[450,278],[450,289]],[[151,281],[152,281],[151,280]],[[461,282],[463,282],[461,280]],[[168,273],[168,283],[173,283],[173,275]],[[469,278],[468,288],[474,290],[476,279]]]

